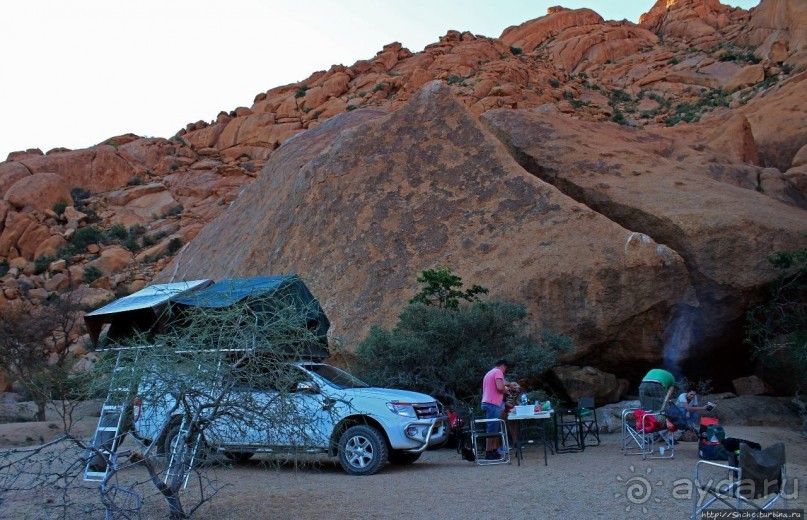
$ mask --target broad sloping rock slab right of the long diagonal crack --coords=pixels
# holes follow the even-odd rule
[[[637,131],[521,110],[490,111],[482,120],[527,170],[684,258],[695,294],[682,301],[668,333],[668,362],[736,348],[745,310],[776,276],[767,256],[806,242],[807,212],[798,201],[757,191],[760,168],[704,147],[697,132]]]

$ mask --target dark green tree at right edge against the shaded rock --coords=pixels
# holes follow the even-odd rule
[[[807,247],[771,257],[779,272],[768,301],[747,315],[746,342],[763,363],[788,367],[797,391],[807,390]]]

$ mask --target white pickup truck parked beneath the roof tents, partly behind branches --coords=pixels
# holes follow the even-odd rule
[[[448,439],[447,416],[431,396],[373,388],[320,362],[286,366],[294,381],[289,392],[261,388],[251,380],[230,390],[251,403],[252,411],[216,415],[203,430],[207,449],[236,461],[255,453],[327,453],[338,456],[351,475],[372,475],[388,461],[412,464],[427,448]],[[183,413],[170,397],[155,402],[141,394],[134,404],[133,433],[170,453]]]

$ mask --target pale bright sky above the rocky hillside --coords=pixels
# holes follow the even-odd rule
[[[0,3],[0,161],[125,133],[171,137],[270,88],[398,41],[498,37],[588,7],[638,22],[655,0],[24,0]],[[749,9],[759,0],[723,3]]]

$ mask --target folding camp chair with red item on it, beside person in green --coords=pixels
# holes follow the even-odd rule
[[[667,430],[666,417],[641,408],[622,410],[622,453],[642,459],[672,459],[675,438]]]

